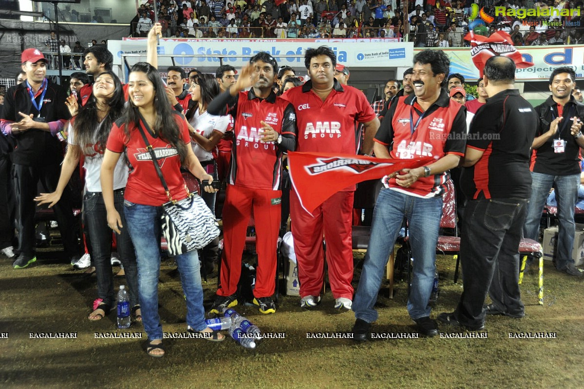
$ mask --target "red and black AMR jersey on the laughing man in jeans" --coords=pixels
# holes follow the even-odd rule
[[[391,158],[442,158],[447,154],[462,157],[466,130],[464,106],[450,100],[448,93],[442,90],[436,102],[426,111],[418,105],[413,94],[394,100],[388,110],[387,119],[381,122],[375,141],[391,146]],[[448,179],[448,173],[444,172],[421,177],[412,186],[405,188],[397,185],[395,178],[388,179],[385,176],[384,184],[413,196],[434,197],[442,195]]]

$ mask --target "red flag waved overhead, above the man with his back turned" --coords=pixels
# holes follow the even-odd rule
[[[505,31],[494,32],[491,36],[482,36],[470,31],[466,34],[464,40],[471,41],[472,62],[474,62],[479,74],[481,74],[480,77],[482,77],[482,70],[485,68],[486,60],[495,55],[511,58],[515,62],[515,66],[520,69],[533,66],[532,62],[523,60],[519,50],[513,46],[513,40]]]

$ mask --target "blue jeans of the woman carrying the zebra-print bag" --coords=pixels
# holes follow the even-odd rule
[[[138,292],[142,323],[148,339],[162,339],[158,315],[158,277],[160,273],[160,237],[162,207],[135,204],[124,200],[127,227],[136,249]],[[175,257],[180,283],[186,296],[186,323],[196,331],[207,328],[203,308],[203,287],[196,251]]]

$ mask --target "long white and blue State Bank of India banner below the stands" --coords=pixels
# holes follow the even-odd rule
[[[175,57],[176,65],[182,67],[217,67],[219,58],[223,63],[242,67],[258,51],[272,54],[278,65],[304,68],[304,51],[310,47],[326,45],[335,51],[337,62],[347,67],[411,67],[413,43],[398,42],[397,39],[161,39],[158,54],[186,55]],[[107,48],[114,54],[114,64],[121,65],[123,54],[140,54],[141,58],[128,58],[134,64],[146,60],[144,38],[124,38],[108,41]],[[228,55],[239,55],[228,58]],[[280,57],[294,55],[296,57]],[[161,66],[172,65],[171,58],[159,57]]]

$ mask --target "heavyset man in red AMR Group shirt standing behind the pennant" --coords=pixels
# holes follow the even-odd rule
[[[339,72],[331,48],[308,48],[304,65],[310,80],[283,96],[297,109],[298,150],[357,154],[355,124],[363,123],[365,137],[361,153],[370,154],[379,120],[363,92],[342,85],[335,77]],[[346,68],[345,68],[346,69]],[[323,130],[316,129],[320,126]],[[352,216],[355,186],[346,187],[325,200],[312,214],[303,209],[296,193],[290,196],[290,216],[294,251],[298,259],[300,306],[315,307],[321,301],[326,239],[331,291],[335,309],[348,311],[353,300]]]

